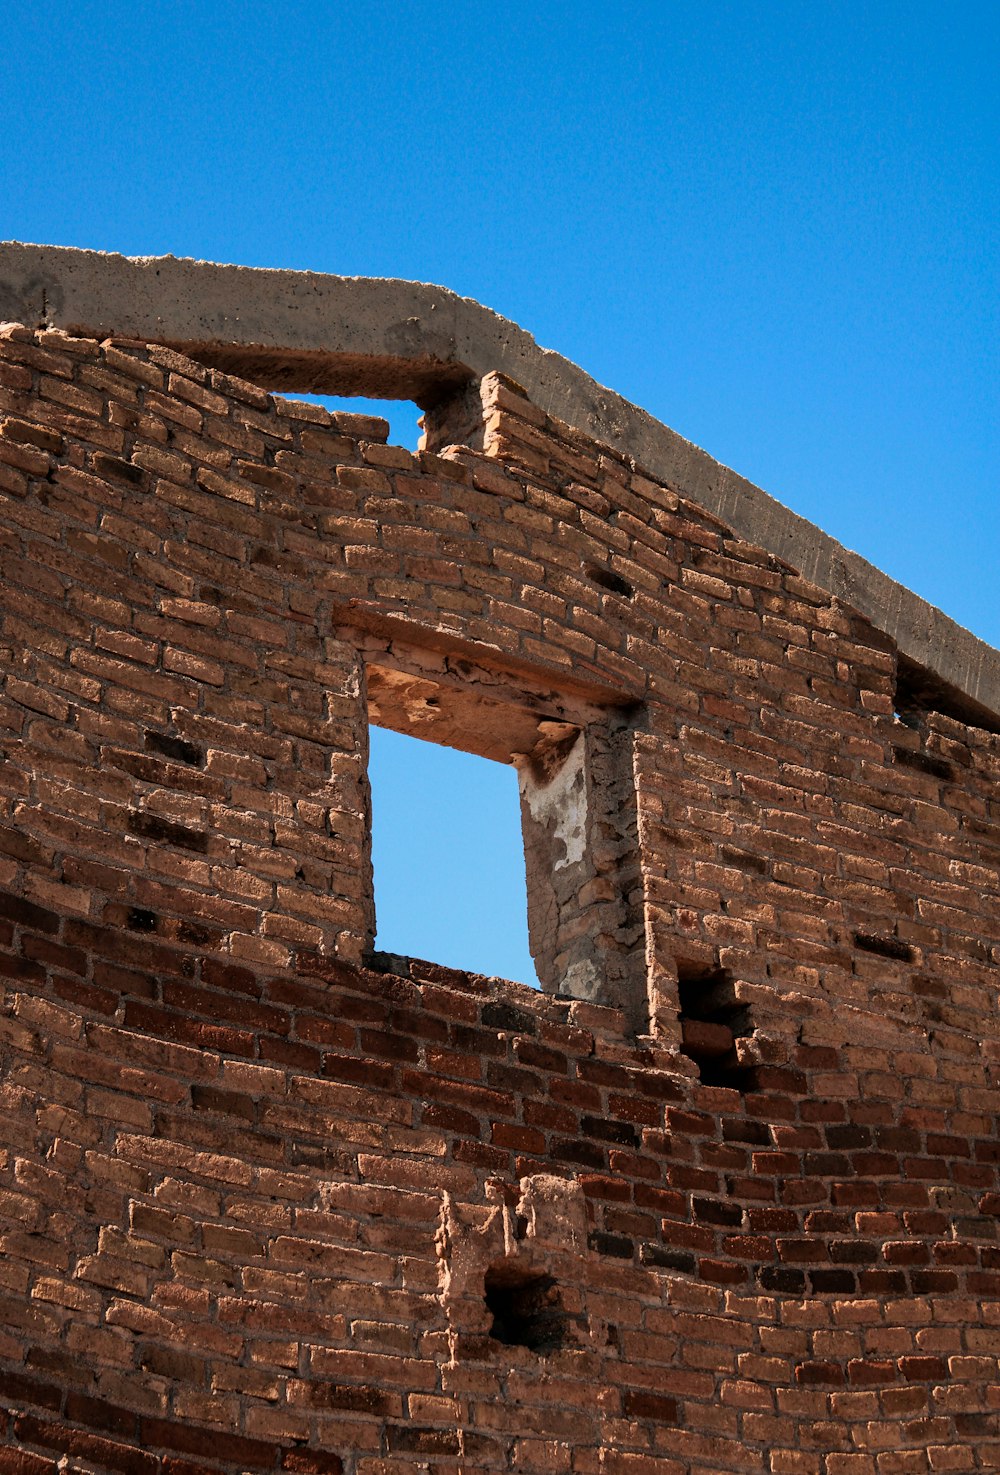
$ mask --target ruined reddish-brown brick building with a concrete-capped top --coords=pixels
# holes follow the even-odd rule
[[[1000,656],[437,288],[0,319],[0,1472],[999,1469]],[[541,993],[372,954],[369,720]]]

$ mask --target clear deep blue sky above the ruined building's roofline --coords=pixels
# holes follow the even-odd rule
[[[0,236],[450,286],[1000,645],[999,43],[997,0],[35,0]]]

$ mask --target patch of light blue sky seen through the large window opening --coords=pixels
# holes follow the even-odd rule
[[[513,767],[369,729],[375,947],[538,987]]]

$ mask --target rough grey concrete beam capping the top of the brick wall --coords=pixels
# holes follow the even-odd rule
[[[547,414],[630,457],[866,615],[997,724],[1000,652],[516,323],[447,288],[0,243],[0,322],[170,344],[265,388],[413,398],[499,370]]]

